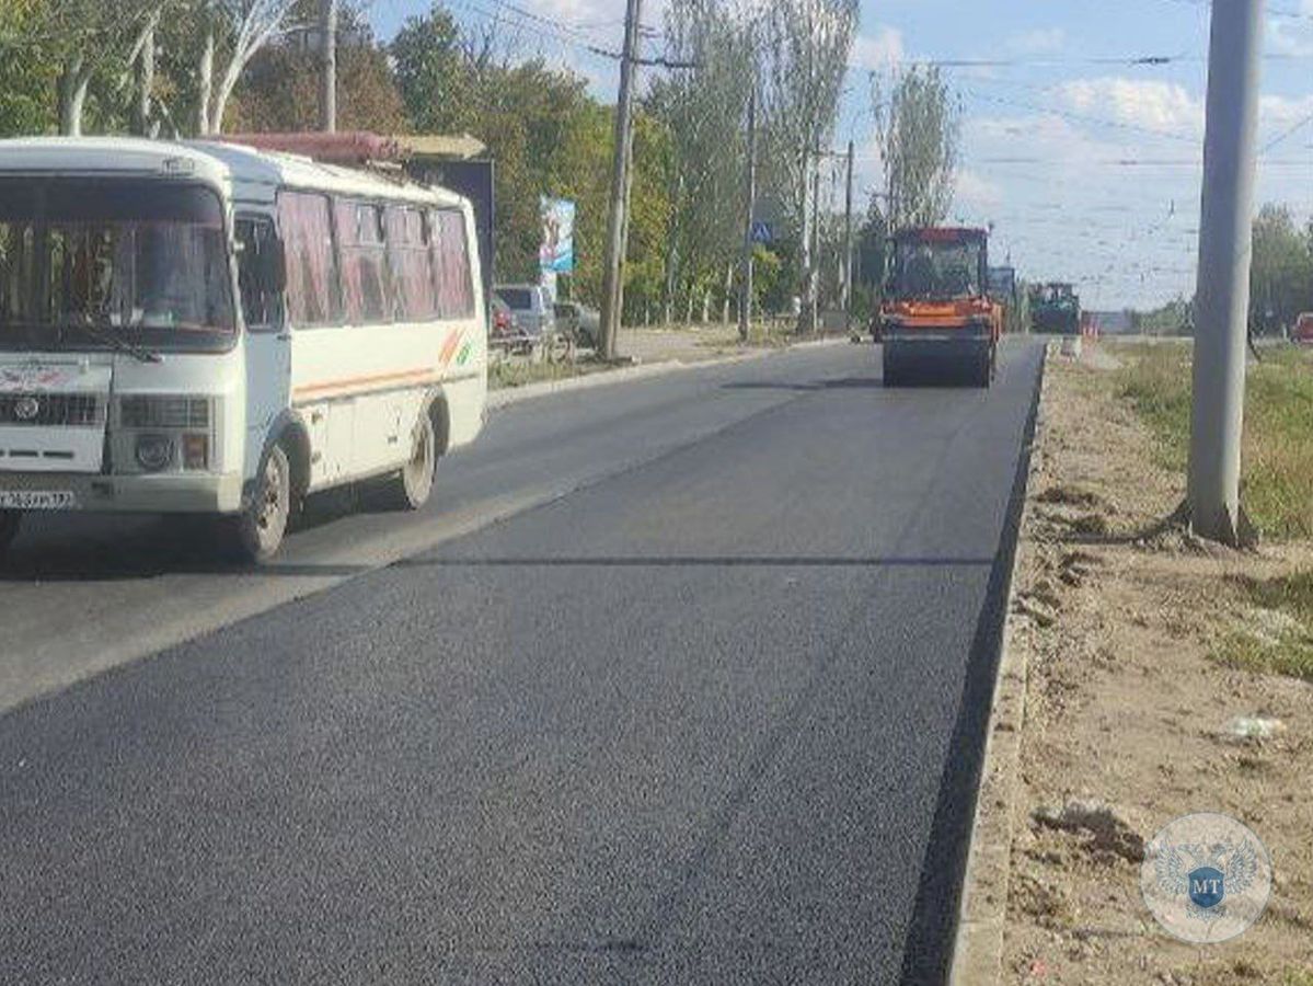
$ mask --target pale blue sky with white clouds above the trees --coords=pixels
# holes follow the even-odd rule
[[[429,0],[373,0],[381,37]],[[529,53],[614,100],[624,0],[448,0],[469,24],[500,17]],[[646,0],[660,54],[664,0]],[[1207,0],[863,0],[835,147],[857,147],[863,202],[878,190],[872,72],[945,67],[962,100],[953,219],[993,223],[993,263],[1074,281],[1087,307],[1191,295],[1199,234]],[[1132,64],[1167,56],[1167,64]],[[989,62],[991,64],[978,64]],[[1313,213],[1313,0],[1268,0],[1258,204]],[[838,192],[825,173],[827,198]],[[838,201],[838,196],[835,196]]]

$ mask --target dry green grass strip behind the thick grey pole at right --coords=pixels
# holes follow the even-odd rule
[[[1158,440],[1161,465],[1183,470],[1190,454],[1190,357],[1183,345],[1125,347],[1117,394]],[[1264,352],[1245,400],[1242,499],[1267,537],[1313,537],[1313,354]]]

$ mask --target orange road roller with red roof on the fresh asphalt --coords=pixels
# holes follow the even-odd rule
[[[880,307],[885,386],[918,366],[964,366],[976,386],[994,379],[1002,320],[989,295],[989,234],[902,230]]]

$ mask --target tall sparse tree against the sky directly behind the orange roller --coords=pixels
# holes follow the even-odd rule
[[[885,172],[890,227],[935,226],[953,204],[961,143],[961,106],[937,67],[874,79],[876,143]]]

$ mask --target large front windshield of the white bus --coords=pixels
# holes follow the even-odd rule
[[[0,176],[0,349],[87,349],[114,337],[213,348],[235,328],[214,192]]]

